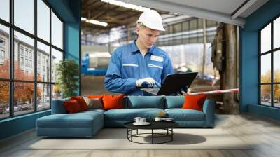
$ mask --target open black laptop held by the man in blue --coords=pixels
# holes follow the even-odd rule
[[[141,88],[144,95],[174,95],[183,87],[190,87],[198,72],[167,75],[160,88]]]

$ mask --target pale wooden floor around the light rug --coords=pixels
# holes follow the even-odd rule
[[[25,150],[25,146],[38,140],[29,130],[0,142],[0,156],[75,156],[75,157],[175,157],[175,156],[280,156],[280,122],[251,114],[217,115],[216,128],[227,130],[243,142],[253,142],[250,150]],[[223,141],[221,141],[223,142]]]

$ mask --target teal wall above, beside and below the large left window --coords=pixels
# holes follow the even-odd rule
[[[80,63],[80,0],[47,1],[64,21],[64,57]],[[79,89],[77,89],[78,93],[80,93]],[[36,127],[36,119],[47,115],[50,115],[50,110],[1,120],[0,139]]]

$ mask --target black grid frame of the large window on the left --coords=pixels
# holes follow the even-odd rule
[[[37,1],[38,0],[34,0],[34,34],[31,34],[29,32],[27,32],[26,30],[24,29],[21,29],[20,27],[14,25],[14,0],[10,0],[9,1],[9,7],[10,7],[10,21],[7,22],[6,20],[3,20],[0,18],[0,25],[3,25],[5,27],[8,27],[9,29],[9,36],[8,36],[8,40],[9,40],[9,44],[8,44],[8,53],[10,55],[10,77],[9,78],[0,78],[0,81],[8,81],[9,83],[9,108],[10,108],[10,113],[9,113],[9,116],[7,117],[3,117],[3,118],[0,118],[0,121],[3,120],[3,119],[7,119],[7,118],[13,118],[13,117],[16,117],[16,116],[23,116],[23,115],[26,115],[26,114],[17,114],[15,115],[15,111],[14,111],[14,101],[13,101],[13,97],[14,97],[14,83],[33,83],[33,86],[34,86],[34,95],[33,95],[33,100],[37,100],[37,86],[39,84],[46,84],[46,85],[49,85],[50,86],[50,107],[48,109],[37,109],[38,107],[38,103],[37,101],[34,101],[33,104],[31,105],[34,105],[34,109],[31,110],[30,112],[28,112],[27,114],[32,114],[34,112],[37,112],[37,111],[45,111],[45,110],[49,110],[51,109],[52,107],[52,86],[55,85],[55,82],[52,81],[52,75],[50,75],[50,80],[49,81],[37,81],[37,41],[38,42],[41,42],[43,44],[45,44],[46,46],[50,46],[50,74],[52,74],[52,48],[54,48],[55,50],[58,50],[59,52],[62,53],[62,60],[64,60],[64,20],[62,20],[62,18],[59,16],[59,14],[50,6],[50,4],[48,4],[47,1],[45,0],[41,0],[43,1],[43,3],[48,6],[50,8],[50,13],[48,13],[48,15],[50,16],[50,41],[45,41],[44,39],[41,39],[40,37],[38,37],[37,35],[37,29],[38,29],[38,25],[37,25],[37,17],[38,17],[38,11],[37,11]],[[52,44],[52,13],[54,13],[57,18],[59,18],[59,20],[62,22],[62,48],[58,48],[57,46],[53,45]],[[34,39],[34,52],[33,52],[33,58],[29,58],[29,50],[27,50],[27,56],[25,55],[25,47],[23,47],[23,55],[21,53],[21,49],[22,48],[19,44],[19,51],[18,51],[18,57],[23,57],[24,59],[24,64],[25,64],[25,59],[29,59],[31,60],[31,63],[34,64],[34,65],[31,65],[31,67],[33,67],[34,69],[34,78],[32,81],[27,81],[27,80],[19,80],[19,79],[15,79],[14,78],[14,46],[15,46],[15,36],[14,36],[14,32],[19,32],[25,36],[28,36],[30,37],[31,39]],[[29,61],[28,60],[28,61]],[[20,61],[20,59],[19,59]],[[20,62],[19,62],[20,64]],[[29,67],[29,64],[27,66],[27,68],[30,68]],[[25,71],[24,71],[25,72]]]

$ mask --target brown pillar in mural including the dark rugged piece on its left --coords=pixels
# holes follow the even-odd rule
[[[217,28],[216,38],[212,43],[211,60],[220,74],[220,87],[223,89],[238,88],[238,49],[237,27],[221,23]],[[239,103],[236,93],[223,93],[223,101],[218,105],[218,113],[239,114]]]

